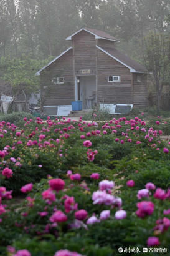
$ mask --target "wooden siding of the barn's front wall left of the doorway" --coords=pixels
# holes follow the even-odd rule
[[[52,77],[64,77],[64,84],[53,84]],[[40,74],[43,106],[71,105],[75,100],[73,76],[73,51],[51,64]],[[47,86],[47,89],[44,89]]]

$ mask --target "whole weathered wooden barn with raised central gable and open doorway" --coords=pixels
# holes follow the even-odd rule
[[[82,109],[97,104],[147,106],[147,70],[116,49],[113,36],[83,28],[67,37],[70,47],[42,67],[41,99],[48,114],[82,101]]]

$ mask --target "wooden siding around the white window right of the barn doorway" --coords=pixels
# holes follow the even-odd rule
[[[108,82],[120,76],[120,82]],[[130,69],[98,49],[98,103],[133,104]]]

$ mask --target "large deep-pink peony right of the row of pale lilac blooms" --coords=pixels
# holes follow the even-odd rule
[[[144,218],[146,215],[151,215],[154,212],[154,204],[151,201],[138,202],[137,207],[136,215],[140,218]]]

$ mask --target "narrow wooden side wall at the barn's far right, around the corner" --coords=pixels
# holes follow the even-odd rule
[[[137,76],[141,77],[141,82],[137,81]],[[147,89],[147,75],[133,74],[133,101],[134,107],[141,109],[148,106],[148,89]]]

